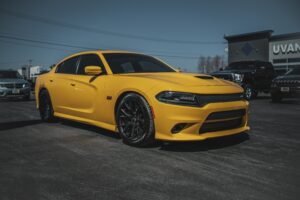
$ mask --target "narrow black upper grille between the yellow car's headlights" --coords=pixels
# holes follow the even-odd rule
[[[198,94],[197,100],[200,106],[205,106],[209,103],[222,103],[230,101],[244,100],[242,93],[236,94]]]

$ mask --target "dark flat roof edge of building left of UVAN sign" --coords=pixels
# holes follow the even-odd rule
[[[228,42],[238,42],[238,41],[245,41],[245,40],[253,40],[253,39],[261,39],[261,38],[270,38],[273,30],[264,30],[264,31],[257,31],[251,33],[244,33],[238,35],[224,35],[224,39]]]

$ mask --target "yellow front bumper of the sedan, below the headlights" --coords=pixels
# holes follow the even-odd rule
[[[204,107],[178,106],[158,101],[155,104],[153,107],[155,108],[155,138],[157,140],[196,141],[250,130],[247,101],[210,103]],[[231,118],[228,116],[212,120],[208,118],[212,113],[237,110],[243,110],[244,114]],[[240,124],[234,124],[237,120],[240,120]],[[178,133],[172,133],[172,129],[177,124],[186,124],[186,126]],[[211,129],[211,127],[214,128]]]

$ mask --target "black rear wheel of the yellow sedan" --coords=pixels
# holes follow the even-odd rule
[[[53,107],[50,99],[50,95],[47,90],[42,90],[39,98],[39,111],[41,119],[45,122],[54,121]]]

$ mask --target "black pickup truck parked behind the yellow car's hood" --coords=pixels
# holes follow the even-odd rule
[[[271,82],[276,76],[273,65],[262,61],[233,62],[225,70],[211,75],[240,84],[247,100],[255,98],[258,92],[270,92]]]

